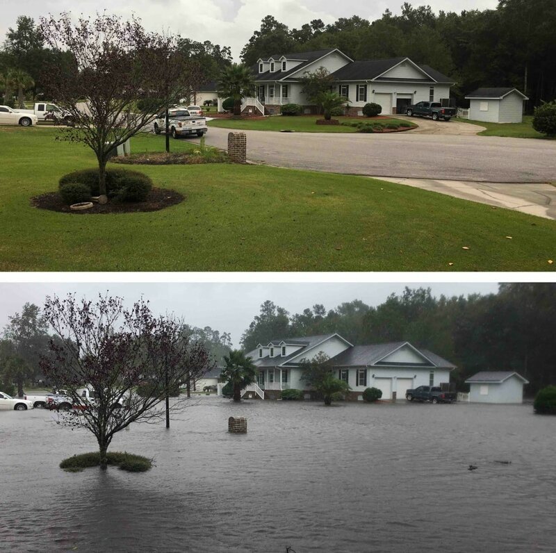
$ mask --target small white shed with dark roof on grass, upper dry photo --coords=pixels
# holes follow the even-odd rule
[[[489,123],[521,123],[523,102],[528,100],[517,88],[477,88],[465,98],[469,119]]]

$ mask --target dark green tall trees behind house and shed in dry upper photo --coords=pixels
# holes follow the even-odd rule
[[[357,15],[288,28],[272,15],[241,51],[247,65],[276,53],[338,48],[354,60],[407,56],[450,76],[459,105],[480,86],[512,86],[529,110],[556,97],[556,0],[499,0],[495,10],[440,11],[405,2],[371,22]]]

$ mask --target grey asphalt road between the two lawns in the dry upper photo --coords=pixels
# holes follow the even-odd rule
[[[206,144],[226,149],[229,132],[209,127]],[[247,159],[280,167],[404,179],[556,181],[556,141],[550,140],[412,131],[377,135],[245,133]]]

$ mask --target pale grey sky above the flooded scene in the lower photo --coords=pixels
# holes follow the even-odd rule
[[[433,295],[489,294],[498,290],[496,283],[0,283],[0,331],[8,317],[20,312],[25,302],[38,306],[47,295],[95,299],[99,293],[123,297],[130,305],[141,295],[151,302],[156,314],[173,313],[195,327],[211,327],[230,332],[235,347],[241,334],[260,306],[270,299],[290,313],[301,313],[314,304],[332,309],[343,302],[361,299],[368,305],[384,302],[404,286],[432,289]],[[1,332],[0,332],[1,333]]]

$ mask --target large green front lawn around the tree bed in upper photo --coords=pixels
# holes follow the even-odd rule
[[[2,271],[556,268],[547,263],[556,259],[554,221],[363,176],[260,165],[136,166],[186,200],[152,213],[39,210],[32,196],[56,190],[67,172],[95,166],[90,149],[55,136],[49,127],[0,127]],[[163,136],[131,140],[136,152],[163,145]]]

